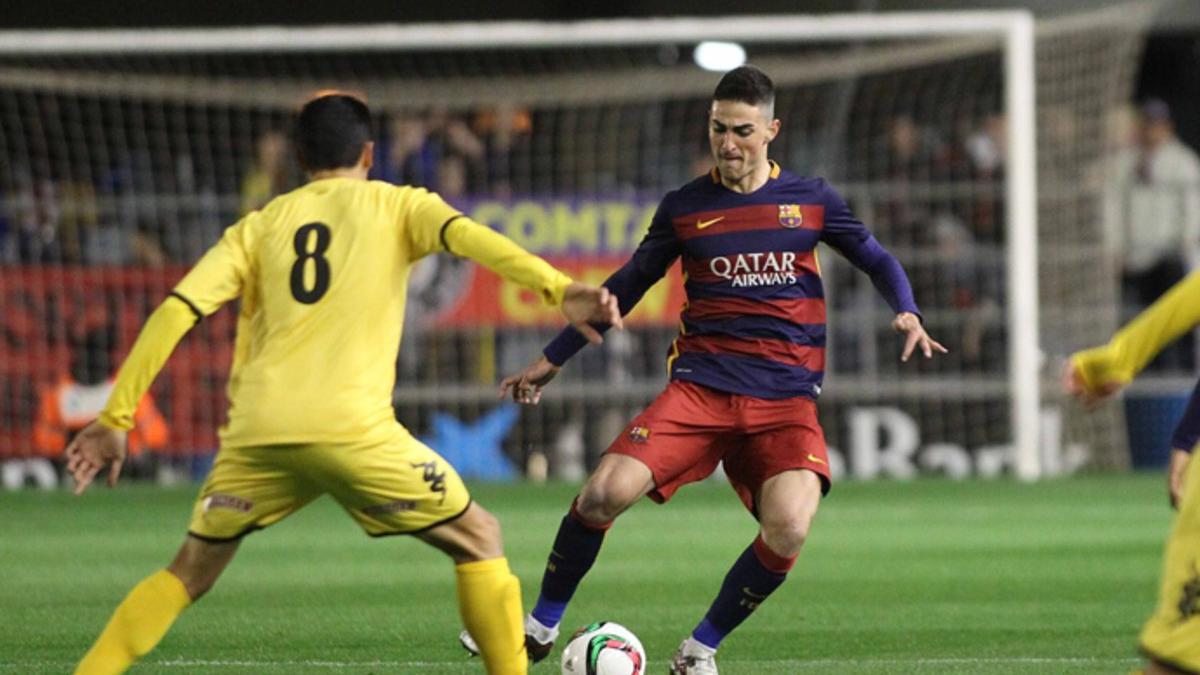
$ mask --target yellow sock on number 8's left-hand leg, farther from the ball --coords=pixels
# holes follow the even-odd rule
[[[118,605],[104,632],[79,662],[76,675],[125,673],[158,644],[191,602],[184,583],[170,572],[162,569],[146,577]]]

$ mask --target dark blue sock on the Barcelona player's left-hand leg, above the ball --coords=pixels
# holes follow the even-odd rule
[[[583,575],[600,555],[600,544],[610,527],[612,521],[601,525],[587,522],[576,509],[576,502],[571,502],[570,513],[558,526],[546,572],[541,577],[541,593],[530,613],[539,623],[553,628],[563,620],[566,603],[571,602]]]

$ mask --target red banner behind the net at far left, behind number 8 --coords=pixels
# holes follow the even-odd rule
[[[112,357],[128,353],[146,316],[182,267],[0,267],[0,458],[38,454],[34,426],[79,345],[106,331]],[[168,420],[168,449],[216,448],[236,309],[205,318],[175,348],[151,394]]]

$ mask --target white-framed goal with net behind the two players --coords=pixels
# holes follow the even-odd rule
[[[1038,17],[1028,62],[1013,58],[1020,14],[934,16],[5,34],[0,456],[53,453],[49,411],[95,407],[109,357],[186,267],[240,214],[299,185],[287,125],[312,91],[366,96],[373,178],[436,190],[599,282],[658,199],[710,167],[719,74],[691,54],[733,34],[778,86],[772,157],[842,192],[950,348],[901,364],[887,305],[826,252],[821,412],[835,470],[1122,466],[1118,412],[1078,416],[1054,380],[1057,358],[1116,325],[1098,175],[1150,8]],[[1021,86],[1031,96],[1014,97]],[[1033,124],[1014,126],[1022,115]],[[1009,138],[1033,125],[1036,138]],[[1024,171],[1034,141],[1036,172]],[[1027,208],[1013,201],[1021,180],[1031,197],[1036,186]],[[397,417],[468,476],[578,477],[662,388],[682,300],[673,270],[626,331],[576,357],[541,406],[517,410],[497,382],[560,321],[490,273],[427,259],[410,288]],[[235,311],[202,322],[155,384],[163,452],[215,448]],[[96,382],[64,389],[72,376]]]

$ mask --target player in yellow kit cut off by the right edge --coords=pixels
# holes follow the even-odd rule
[[[1117,331],[1108,345],[1075,353],[1064,387],[1094,405],[1129,383],[1168,344],[1200,324],[1200,273],[1176,283]],[[1200,394],[1200,387],[1198,387]],[[1198,394],[1176,437],[1194,438]],[[1192,443],[1192,441],[1189,441]],[[1187,444],[1187,443],[1184,443]],[[1146,675],[1200,673],[1200,461],[1192,447],[1171,452],[1168,490],[1178,515],[1171,526],[1159,579],[1158,605],[1139,641],[1150,659]]]

